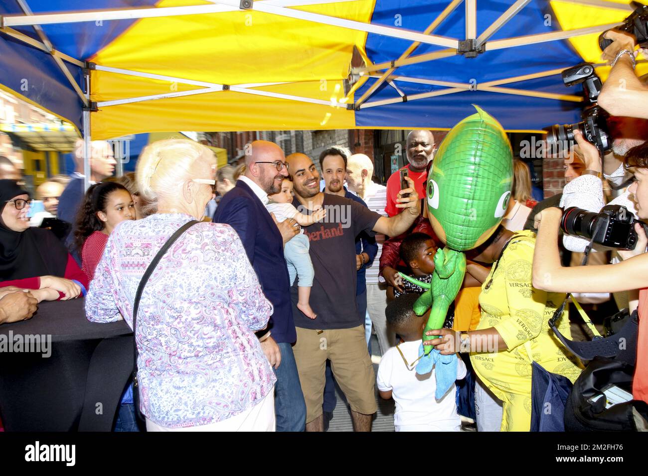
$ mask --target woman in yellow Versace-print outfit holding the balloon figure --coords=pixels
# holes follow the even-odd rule
[[[564,293],[547,293],[531,284],[535,233],[511,232],[503,227],[480,248],[481,262],[494,262],[481,286],[481,321],[476,330],[428,332],[445,336],[430,341],[442,354],[470,352],[470,362],[481,381],[503,402],[502,431],[529,431],[531,427],[531,363],[572,382],[581,364],[551,332],[548,321]],[[571,338],[565,311],[558,321],[562,335]],[[437,342],[440,341],[440,342]]]

